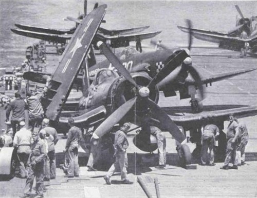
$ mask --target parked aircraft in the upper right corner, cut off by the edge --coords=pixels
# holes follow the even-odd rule
[[[177,26],[181,31],[191,33],[195,38],[218,43],[219,48],[241,51],[247,48],[249,55],[256,56],[257,52],[257,16],[245,18],[240,8],[235,5],[241,18],[237,19],[236,26],[228,32],[217,32],[204,29],[195,29],[190,27]],[[242,36],[242,32],[246,32]]]

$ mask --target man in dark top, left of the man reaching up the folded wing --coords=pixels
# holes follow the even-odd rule
[[[15,100],[10,103],[6,110],[6,122],[9,121],[10,112],[12,111],[11,126],[13,135],[17,130],[20,130],[19,123],[25,120],[25,107],[26,104],[21,98],[20,92],[15,93]]]

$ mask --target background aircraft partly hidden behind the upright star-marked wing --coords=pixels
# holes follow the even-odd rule
[[[97,6],[98,3],[95,4],[95,8],[97,8]],[[67,41],[71,38],[72,34],[75,32],[78,24],[80,24],[81,19],[87,14],[86,10],[87,1],[84,1],[84,14],[80,15],[78,19],[70,16],[67,17],[68,20],[76,22],[76,27],[71,29],[58,30],[15,24],[15,26],[21,30],[11,29],[11,31],[19,35],[42,39],[54,44],[66,44]],[[161,33],[161,31],[139,33],[148,28],[149,26],[143,26],[138,28],[107,30],[100,27],[96,36],[94,37],[93,46],[95,49],[97,49],[97,42],[102,41],[112,48],[127,47],[130,45],[131,41],[137,41],[138,39],[142,41],[143,39],[152,38]]]

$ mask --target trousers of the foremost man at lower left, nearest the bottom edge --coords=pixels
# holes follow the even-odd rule
[[[33,167],[29,167],[24,194],[30,194],[35,177],[35,192],[37,195],[43,195],[44,188],[44,162],[40,162]]]

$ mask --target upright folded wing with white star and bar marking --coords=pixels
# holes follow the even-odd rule
[[[90,45],[105,14],[106,5],[99,6],[85,16],[72,35],[62,60],[53,73],[45,100],[46,116],[56,120],[66,102],[72,83],[90,49]]]

